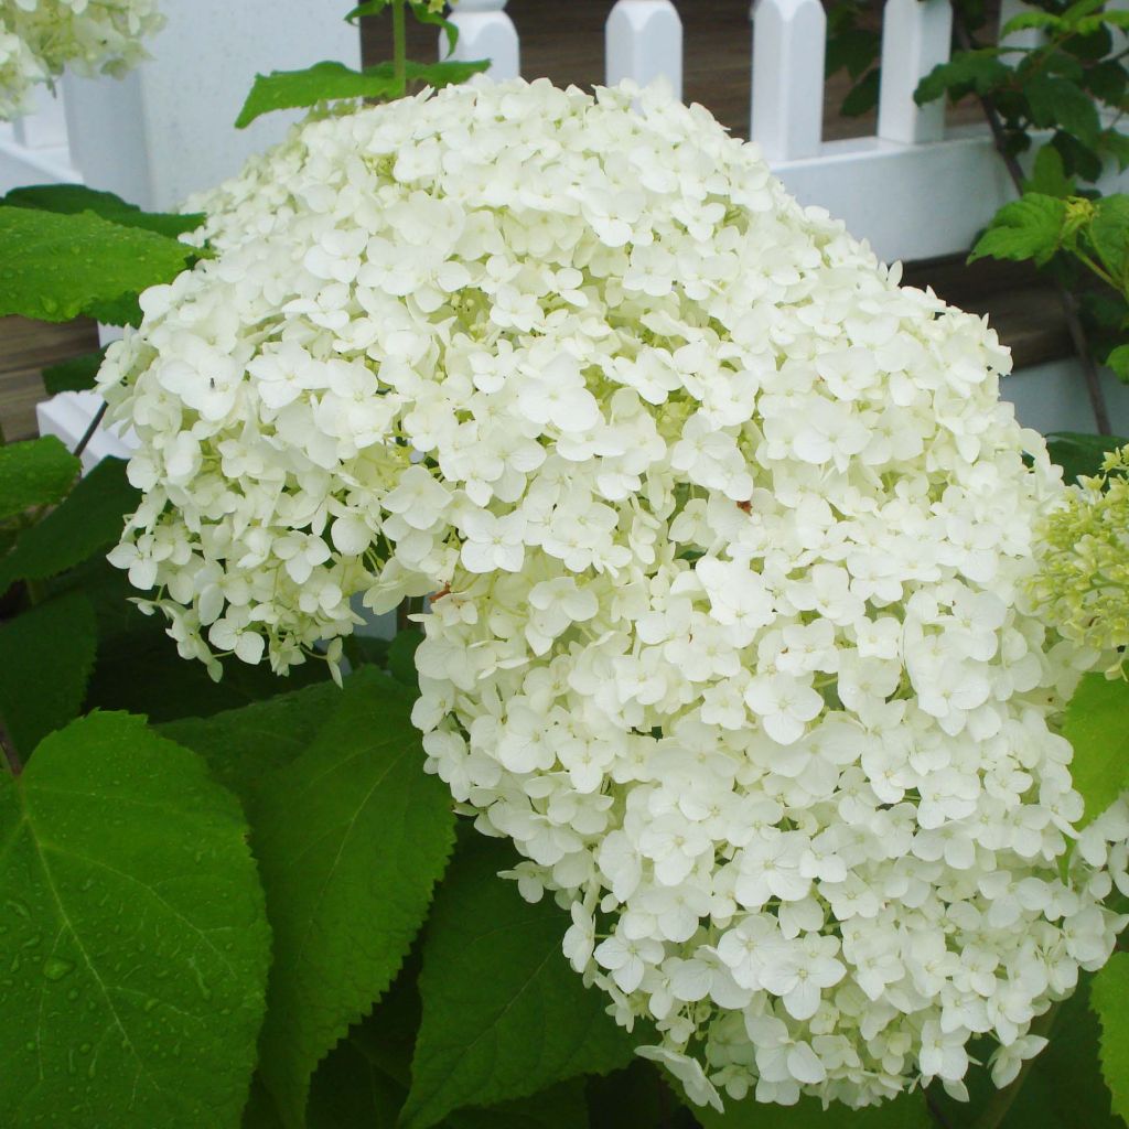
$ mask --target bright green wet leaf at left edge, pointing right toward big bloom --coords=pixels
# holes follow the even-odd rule
[[[91,305],[169,282],[196,248],[91,212],[0,208],[0,316],[68,322]]]

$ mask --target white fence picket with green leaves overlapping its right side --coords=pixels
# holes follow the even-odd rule
[[[913,91],[934,67],[948,61],[952,35],[949,0],[886,0],[882,20],[879,138],[924,145],[944,137],[944,100],[938,98],[919,106]]]

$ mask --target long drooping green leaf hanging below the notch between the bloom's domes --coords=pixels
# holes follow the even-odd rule
[[[317,1062],[394,979],[450,854],[450,795],[423,772],[410,708],[358,672],[252,807],[275,938],[262,1073],[289,1126]]]

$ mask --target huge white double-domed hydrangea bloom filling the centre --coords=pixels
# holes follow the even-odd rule
[[[1025,596],[1062,487],[995,334],[630,87],[313,121],[202,203],[100,376],[182,654],[432,593],[428,770],[694,1100],[961,1093],[979,1035],[1014,1077],[1129,811],[1074,849],[1093,656]]]

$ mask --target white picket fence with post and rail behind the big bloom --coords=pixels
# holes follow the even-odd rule
[[[730,2],[744,9],[749,0]],[[1016,8],[1017,0],[1005,0],[1004,18]],[[50,96],[33,117],[0,133],[0,191],[84,178],[141,204],[172,207],[280,134],[277,115],[244,133],[231,129],[256,70],[358,61],[356,30],[308,0],[168,0],[167,9],[154,60],[124,82],[67,81],[69,146]],[[462,33],[458,58],[492,59],[497,78],[519,72],[506,0],[458,0],[452,18]],[[846,220],[882,257],[963,251],[1013,194],[987,129],[946,132],[939,104],[913,102],[920,78],[948,58],[949,0],[886,0],[877,130],[851,140],[822,137],[820,0],[758,0],[752,26],[752,139],[796,196]],[[681,91],[683,33],[672,0],[609,0],[605,60],[610,81],[664,77]]]

